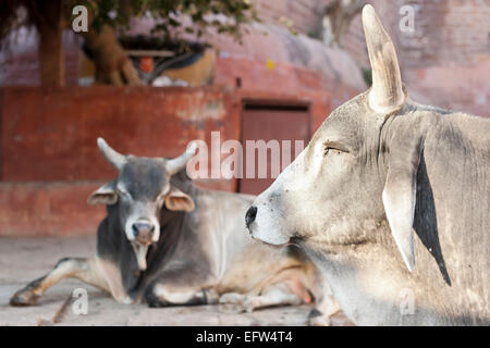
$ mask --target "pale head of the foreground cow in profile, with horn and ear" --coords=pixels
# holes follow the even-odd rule
[[[390,119],[411,102],[393,44],[371,5],[363,10],[363,25],[372,87],[324,120],[307,148],[257,197],[246,224],[254,238],[269,245],[302,240],[328,249],[372,241],[385,232],[388,217],[412,271],[420,149],[403,132],[387,133]]]

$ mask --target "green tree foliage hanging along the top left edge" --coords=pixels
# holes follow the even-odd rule
[[[33,26],[44,17],[47,0],[0,0],[0,41],[22,25]],[[250,0],[49,0],[62,7],[64,17],[73,20],[72,9],[82,4],[89,10],[94,29],[108,24],[127,28],[132,17],[149,15],[157,21],[154,32],[166,39],[179,33],[200,36],[206,27],[240,38],[240,26],[249,20],[258,21]],[[45,2],[46,4],[46,2]],[[185,21],[184,17],[191,21]],[[66,22],[69,23],[69,22]],[[176,30],[179,29],[179,30]]]

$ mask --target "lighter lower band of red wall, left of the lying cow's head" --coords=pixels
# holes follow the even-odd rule
[[[0,236],[95,235],[105,207],[87,197],[105,182],[0,183]]]

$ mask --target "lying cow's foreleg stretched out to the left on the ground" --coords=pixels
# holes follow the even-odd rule
[[[77,278],[89,285],[106,290],[112,296],[119,297],[117,300],[127,301],[127,296],[121,294],[121,286],[118,286],[118,274],[115,265],[111,262],[102,261],[98,258],[81,259],[65,258],[61,259],[58,264],[45,276],[37,278],[24,288],[16,291],[11,300],[11,306],[32,306],[42,296],[51,286],[64,278]],[[121,276],[119,275],[119,279]]]

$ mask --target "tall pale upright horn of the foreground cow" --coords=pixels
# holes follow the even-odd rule
[[[389,113],[400,108],[405,99],[396,52],[370,4],[363,9],[363,27],[372,70],[369,107],[380,113]]]

